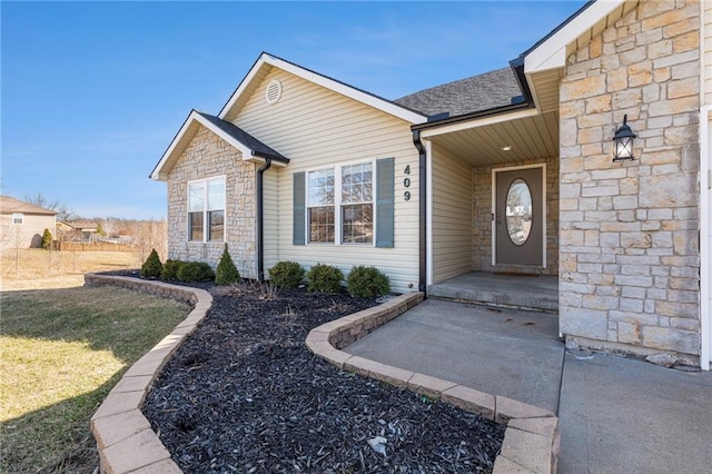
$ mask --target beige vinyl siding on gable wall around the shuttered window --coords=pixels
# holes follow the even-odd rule
[[[268,105],[265,88],[273,79],[281,81],[283,95],[277,103]],[[275,259],[299,261],[307,268],[317,263],[336,265],[345,274],[355,265],[373,265],[388,275],[392,290],[417,290],[418,154],[412,141],[409,124],[277,68],[255,88],[255,93],[246,100],[234,122],[290,160],[276,174],[279,189],[277,206],[269,210],[266,208],[266,220],[275,223],[273,227],[276,225],[278,229],[277,251],[268,250],[266,269],[274,265]],[[395,247],[294,246],[294,174],[334,165],[372,160],[375,164],[378,158],[394,158]],[[405,201],[404,178],[408,165],[411,186],[407,190],[412,198]]]

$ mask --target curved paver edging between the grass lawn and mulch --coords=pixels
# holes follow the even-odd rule
[[[97,438],[101,472],[180,473],[140,408],[160,369],[212,306],[212,297],[205,289],[96,274],[85,276],[85,286],[118,286],[194,306],[182,323],[123,374],[91,417],[91,432]]]

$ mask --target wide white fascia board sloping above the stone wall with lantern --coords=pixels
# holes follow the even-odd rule
[[[625,0],[599,0],[556,31],[524,58],[524,72],[545,71],[566,65],[566,46],[605,18]]]

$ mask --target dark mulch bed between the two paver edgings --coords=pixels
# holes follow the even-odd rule
[[[504,427],[339,371],[308,332],[373,306],[346,294],[241,286],[215,296],[144,405],[185,472],[487,472]],[[385,438],[385,454],[369,440]],[[383,447],[376,444],[376,447]]]

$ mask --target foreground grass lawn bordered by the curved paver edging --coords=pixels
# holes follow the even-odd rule
[[[111,287],[0,295],[0,472],[91,473],[91,415],[190,308]]]

